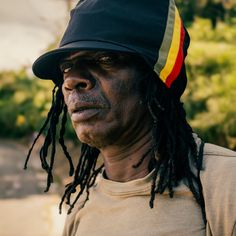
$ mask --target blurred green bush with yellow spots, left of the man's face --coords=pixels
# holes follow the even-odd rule
[[[22,137],[39,130],[50,108],[51,82],[26,70],[0,73],[0,136]]]

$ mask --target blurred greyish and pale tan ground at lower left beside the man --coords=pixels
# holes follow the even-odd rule
[[[23,170],[27,150],[27,145],[0,140],[0,235],[59,236],[66,213],[59,215],[58,186],[44,193],[46,175],[35,155]]]

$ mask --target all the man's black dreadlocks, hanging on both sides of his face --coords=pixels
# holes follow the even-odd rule
[[[140,83],[140,89],[145,95],[145,103],[153,119],[153,147],[148,150],[153,152],[153,159],[149,163],[150,170],[153,170],[153,180],[151,186],[151,196],[149,205],[154,207],[156,194],[162,194],[168,190],[169,196],[174,196],[174,188],[181,180],[188,185],[194,198],[202,209],[202,216],[206,222],[204,199],[200,181],[200,170],[202,169],[203,143],[200,150],[192,135],[193,131],[186,121],[186,113],[183,104],[178,96],[165,87],[154,72],[150,73],[147,66],[143,66],[143,59],[135,56],[132,58],[136,62],[137,69],[142,73],[148,74]],[[134,63],[135,64],[135,63]],[[148,73],[147,73],[148,70]],[[180,77],[183,76],[182,73]],[[146,78],[149,77],[149,78]],[[61,117],[62,116],[62,117]],[[62,94],[62,84],[57,84],[52,93],[52,106],[48,112],[46,121],[35,138],[32,147],[29,150],[25,161],[25,169],[29,161],[31,152],[40,135],[46,131],[44,144],[40,150],[40,159],[42,168],[47,172],[48,191],[53,182],[53,164],[56,153],[56,135],[57,125],[61,122],[59,133],[59,143],[69,162],[69,175],[73,176],[73,181],[65,186],[65,192],[62,196],[59,209],[64,202],[68,204],[71,212],[75,203],[80,196],[86,192],[87,197],[84,203],[89,199],[89,188],[95,183],[97,175],[104,167],[103,164],[97,167],[99,150],[82,143],[80,158],[76,169],[74,170],[72,158],[67,151],[64,143],[65,125],[67,121],[67,106],[64,103]],[[49,160],[48,151],[51,149]],[[143,156],[140,161],[133,166],[136,168],[141,165],[147,155]],[[197,170],[197,171],[194,171]],[[77,193],[74,200],[71,196]]]

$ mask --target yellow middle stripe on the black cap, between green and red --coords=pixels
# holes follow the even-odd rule
[[[167,77],[170,75],[175,66],[180,47],[180,37],[181,37],[181,18],[177,8],[175,7],[175,23],[174,23],[174,32],[173,32],[171,47],[167,56],[166,64],[159,75],[160,79],[164,83],[166,83]]]

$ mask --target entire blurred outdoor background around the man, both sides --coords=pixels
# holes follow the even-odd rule
[[[28,149],[47,116],[53,84],[36,79],[32,62],[55,48],[74,0],[1,0],[0,4],[0,235],[60,235],[58,214],[68,164],[59,149],[54,184],[44,193],[36,145]],[[183,102],[195,132],[207,142],[236,150],[236,0],[176,0],[191,36],[188,87]],[[125,6],[124,6],[125,7]],[[70,126],[73,156],[79,143]]]

